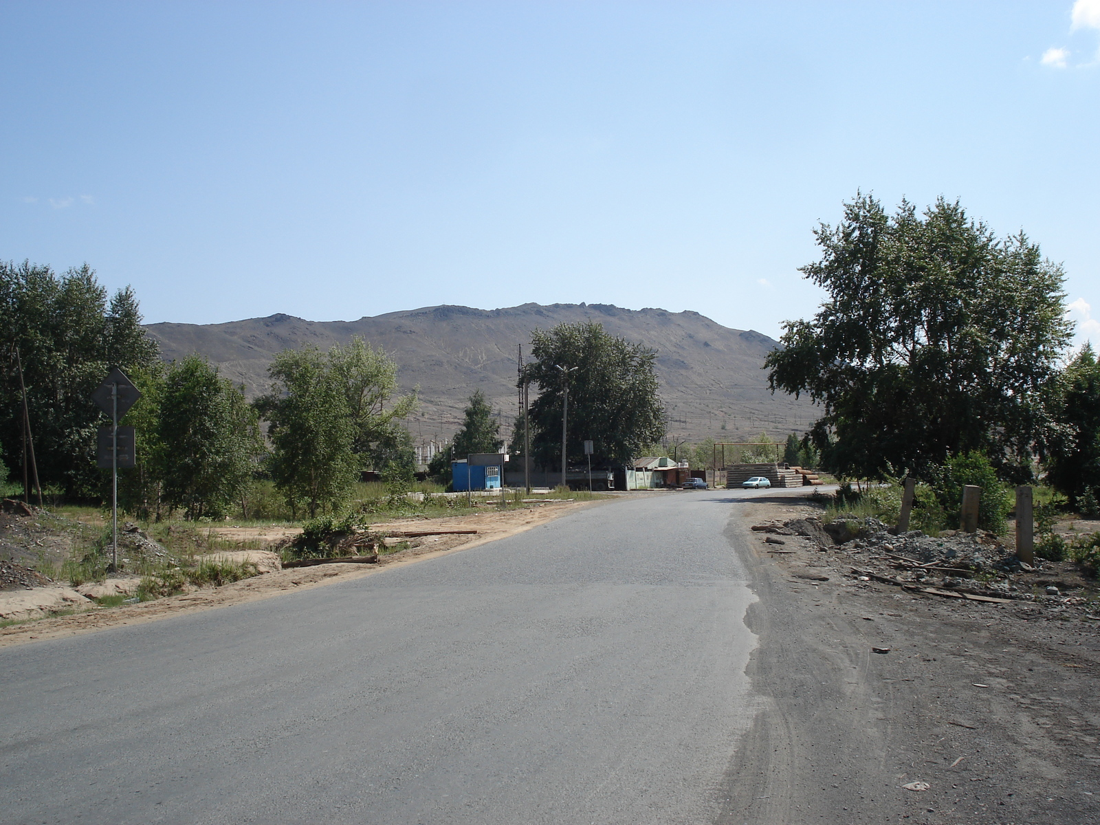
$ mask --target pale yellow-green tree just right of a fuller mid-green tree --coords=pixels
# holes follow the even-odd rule
[[[352,449],[361,469],[411,468],[415,451],[400,420],[417,407],[416,391],[394,398],[397,364],[380,348],[354,336],[346,346],[329,350],[328,371],[344,394],[353,429]]]

